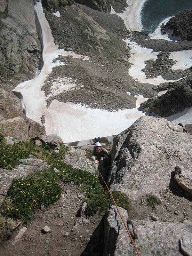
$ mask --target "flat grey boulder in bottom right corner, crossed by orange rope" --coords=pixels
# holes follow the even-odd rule
[[[127,212],[120,208],[127,220]],[[128,229],[142,256],[192,255],[192,222],[128,220]],[[104,256],[137,255],[115,206],[105,217]]]

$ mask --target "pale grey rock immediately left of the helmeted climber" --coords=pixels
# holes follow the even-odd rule
[[[71,148],[63,158],[63,163],[71,165],[75,169],[87,170],[92,174],[98,169],[98,164],[86,158],[85,150]]]

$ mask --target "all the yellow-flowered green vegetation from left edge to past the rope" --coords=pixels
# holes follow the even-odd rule
[[[3,150],[2,150],[3,149]],[[43,159],[50,165],[49,169],[29,174],[26,179],[12,181],[7,196],[0,207],[0,212],[6,218],[19,219],[24,222],[31,220],[35,209],[41,204],[48,206],[55,203],[61,195],[61,182],[81,185],[87,202],[87,213],[103,213],[113,204],[108,191],[104,190],[99,180],[86,170],[73,169],[71,165],[62,162],[67,148],[60,145],[60,152],[55,153],[50,148],[34,145],[32,141],[5,145],[3,136],[0,136],[0,167],[8,169],[19,164],[20,158],[28,158],[29,154]],[[2,154],[2,153],[0,153]],[[59,170],[54,172],[54,168]],[[113,192],[117,205],[128,209],[126,196],[121,192]]]

